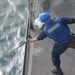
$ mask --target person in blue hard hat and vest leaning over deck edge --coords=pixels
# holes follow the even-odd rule
[[[68,24],[75,23],[75,18],[57,17],[51,19],[51,14],[43,12],[39,14],[39,17],[34,21],[37,24],[38,29],[44,28],[42,32],[35,38],[28,38],[27,42],[34,42],[43,40],[49,37],[54,41],[53,50],[51,53],[53,68],[51,71],[54,74],[63,75],[60,64],[60,55],[64,53],[69,47],[75,48],[75,36],[71,33]]]

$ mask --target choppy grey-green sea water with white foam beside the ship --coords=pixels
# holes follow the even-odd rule
[[[0,0],[0,75],[22,75],[28,0]]]

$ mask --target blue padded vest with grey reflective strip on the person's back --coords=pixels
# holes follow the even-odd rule
[[[69,27],[65,25],[59,17],[53,19],[48,25],[46,25],[44,27],[44,32],[55,42],[61,42],[70,36]]]

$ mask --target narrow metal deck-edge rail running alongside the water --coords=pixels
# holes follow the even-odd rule
[[[29,1],[29,19],[28,19],[28,26],[27,26],[27,35],[30,35],[30,25],[31,25],[31,9],[32,9],[32,5],[30,5],[30,1]],[[26,38],[27,39],[27,38]],[[25,45],[25,53],[24,53],[24,63],[23,63],[23,74],[22,75],[27,75],[28,73],[28,62],[29,62],[29,50],[30,50],[30,43],[26,43]]]

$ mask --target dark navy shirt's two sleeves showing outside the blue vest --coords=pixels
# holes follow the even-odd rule
[[[65,25],[67,25],[67,24],[73,24],[73,23],[75,23],[75,19],[74,18],[60,18],[61,19],[61,21],[63,22],[63,24],[65,24]],[[37,39],[38,40],[43,40],[44,38],[46,38],[47,37],[47,35],[46,35],[46,33],[44,32],[44,31],[42,31],[39,35],[38,35],[38,37],[37,37]]]

